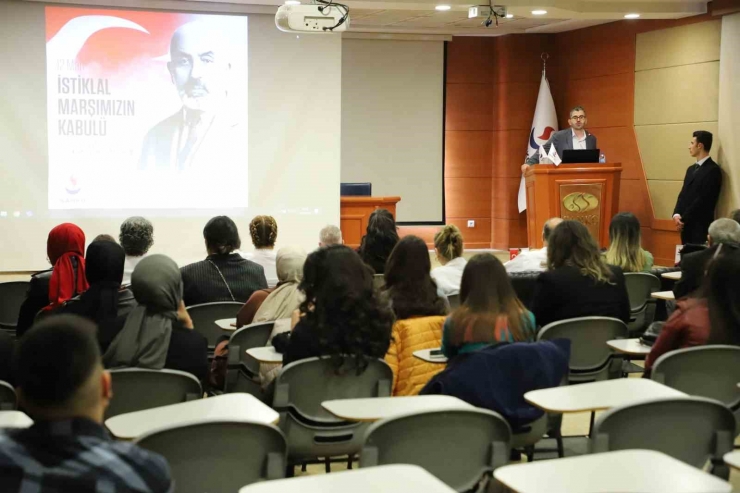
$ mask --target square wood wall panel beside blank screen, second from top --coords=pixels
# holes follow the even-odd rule
[[[493,93],[487,84],[447,84],[445,130],[492,130]]]

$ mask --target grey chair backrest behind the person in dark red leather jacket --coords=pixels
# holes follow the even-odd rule
[[[650,378],[689,395],[740,408],[740,347],[698,346],[662,355]]]

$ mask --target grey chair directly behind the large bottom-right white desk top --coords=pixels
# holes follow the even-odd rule
[[[606,411],[594,426],[591,453],[656,450],[729,478],[722,456],[732,451],[735,417],[721,402],[704,397],[655,399]]]

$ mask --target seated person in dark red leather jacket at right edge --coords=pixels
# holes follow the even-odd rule
[[[740,249],[720,244],[702,287],[676,302],[645,359],[649,377],[655,361],[674,349],[704,344],[740,346]]]

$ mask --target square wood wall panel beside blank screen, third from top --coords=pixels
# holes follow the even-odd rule
[[[490,177],[491,132],[445,132],[445,177]]]

